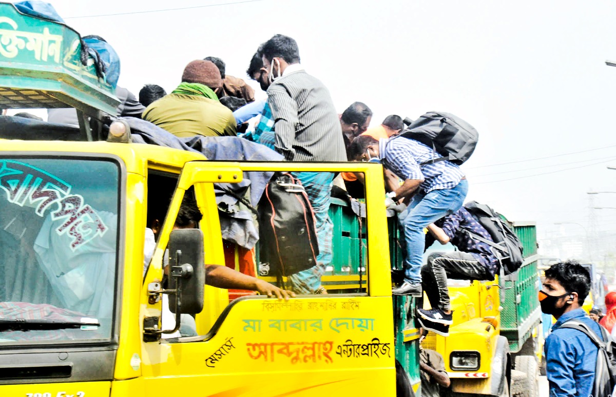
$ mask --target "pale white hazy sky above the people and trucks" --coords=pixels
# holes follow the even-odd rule
[[[616,2],[51,2],[79,33],[115,47],[120,85],[134,93],[146,83],[169,92],[189,61],[209,55],[246,78],[257,46],[283,33],[339,112],[363,101],[372,125],[388,114],[452,112],[480,135],[463,165],[469,200],[537,221],[541,235],[582,232],[554,222],[590,230],[586,192],[616,192],[616,170],[606,168],[616,167],[616,68],[604,63],[616,59]],[[225,5],[84,17],[208,4]],[[616,194],[597,195],[595,205],[616,207]],[[616,210],[595,213],[598,230],[616,230]]]

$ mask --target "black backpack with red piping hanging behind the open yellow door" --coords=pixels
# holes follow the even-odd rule
[[[259,275],[283,276],[317,264],[315,217],[301,181],[276,173],[259,202]]]

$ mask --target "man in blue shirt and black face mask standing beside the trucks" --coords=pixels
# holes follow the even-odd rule
[[[545,271],[543,289],[539,291],[541,311],[557,320],[545,341],[551,397],[586,397],[593,393],[598,349],[581,331],[561,328],[567,321],[581,321],[602,339],[599,324],[582,309],[588,291],[590,275],[580,264],[561,262]]]

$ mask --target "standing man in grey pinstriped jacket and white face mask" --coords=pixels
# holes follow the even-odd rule
[[[346,161],[342,130],[330,92],[299,64],[297,42],[277,34],[263,45],[263,66],[271,82],[267,95],[274,117],[275,150],[288,161]],[[295,173],[314,210],[317,265],[291,275],[296,293],[323,293],[321,276],[331,263],[333,223],[328,215],[334,174]]]

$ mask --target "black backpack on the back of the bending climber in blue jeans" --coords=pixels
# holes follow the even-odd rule
[[[460,117],[445,112],[428,112],[400,132],[400,136],[419,141],[432,147],[443,157],[431,160],[436,163],[444,160],[460,165],[471,157],[477,146],[477,130]]]

